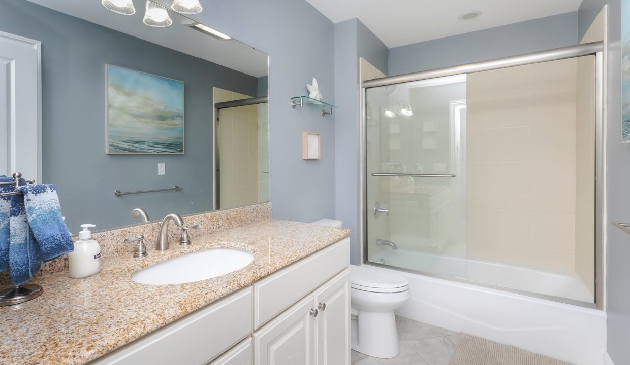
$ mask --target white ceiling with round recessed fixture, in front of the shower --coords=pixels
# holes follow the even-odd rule
[[[582,0],[307,0],[333,23],[358,18],[389,48],[576,11]],[[459,14],[480,10],[478,18]],[[515,40],[518,41],[518,40]]]

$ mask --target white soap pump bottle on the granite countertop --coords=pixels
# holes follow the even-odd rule
[[[88,227],[95,224],[81,224],[79,241],[74,243],[74,251],[68,254],[71,278],[86,278],[101,271],[101,246],[92,239]]]

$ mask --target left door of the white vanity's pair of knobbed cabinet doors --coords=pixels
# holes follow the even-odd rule
[[[255,365],[314,365],[313,296],[302,299],[253,334]]]

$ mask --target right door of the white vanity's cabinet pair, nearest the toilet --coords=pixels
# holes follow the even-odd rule
[[[314,293],[317,365],[350,365],[350,269]]]

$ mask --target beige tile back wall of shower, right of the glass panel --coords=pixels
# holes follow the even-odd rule
[[[467,249],[573,270],[576,62],[469,74]]]

